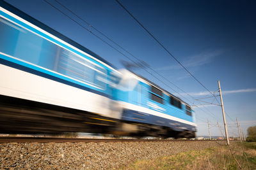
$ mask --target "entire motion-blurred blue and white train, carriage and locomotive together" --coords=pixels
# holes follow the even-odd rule
[[[0,133],[195,138],[189,104],[0,2]]]

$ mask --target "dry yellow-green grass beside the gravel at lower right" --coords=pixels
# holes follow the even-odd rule
[[[242,169],[256,169],[256,143],[232,143]],[[124,169],[240,169],[227,146],[193,150],[154,160],[138,160]]]

